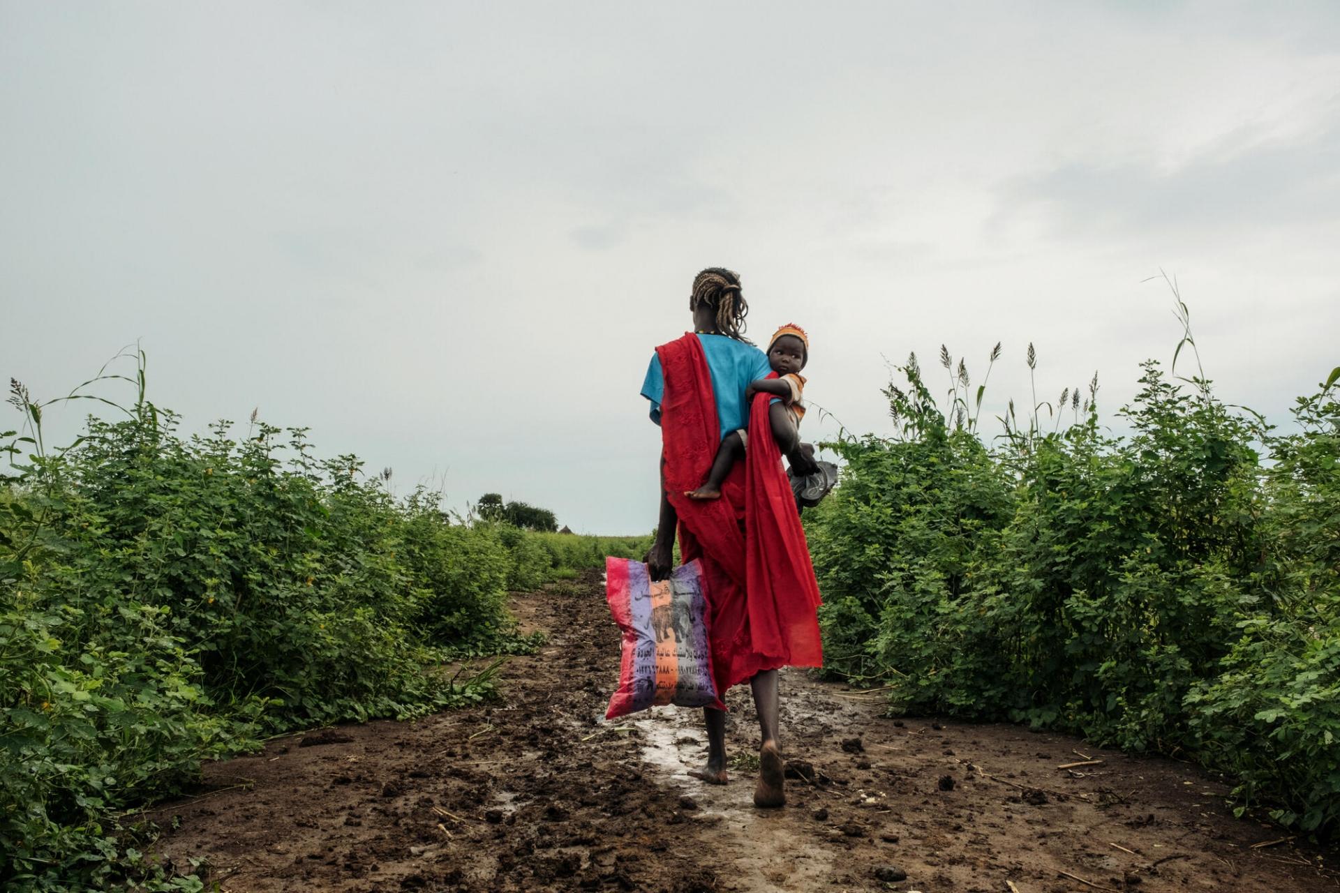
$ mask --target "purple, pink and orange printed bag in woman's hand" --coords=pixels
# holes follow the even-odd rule
[[[604,568],[604,597],[623,631],[619,689],[604,718],[662,704],[725,710],[712,675],[702,566],[679,565],[659,582],[631,558],[606,558]]]

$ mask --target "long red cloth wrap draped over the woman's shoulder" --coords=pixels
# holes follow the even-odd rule
[[[823,665],[819,582],[772,438],[770,395],[754,396],[749,450],[730,469],[721,498],[690,499],[685,491],[708,478],[721,444],[712,374],[697,335],[657,353],[665,376],[663,483],[679,515],[681,560],[702,561],[718,694],[764,669]]]

